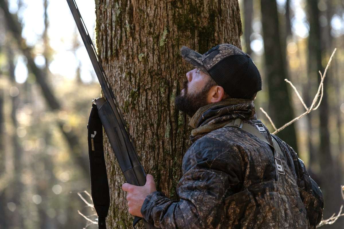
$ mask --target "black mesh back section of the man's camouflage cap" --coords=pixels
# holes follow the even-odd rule
[[[248,55],[225,57],[208,72],[231,98],[249,99],[262,89],[258,68]]]

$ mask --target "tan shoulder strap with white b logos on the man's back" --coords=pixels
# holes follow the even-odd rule
[[[273,146],[272,146],[269,143],[268,139],[264,135],[262,135],[259,132],[259,130],[257,130],[255,127],[251,126],[250,124],[244,123],[240,118],[233,119],[230,123],[226,124],[224,127],[228,127],[228,126],[243,129],[243,130],[247,131],[248,133],[256,136],[262,142],[265,142],[267,145],[270,146],[270,148],[272,149],[273,156],[275,158],[276,181],[278,181],[279,180],[279,173],[281,173],[281,172],[279,172],[279,171],[281,171],[281,168],[280,168],[281,165],[276,161],[277,158],[275,157],[275,152],[277,151],[277,153],[280,155],[280,157],[283,157],[283,153],[282,153],[282,150],[281,150],[280,146],[278,145],[277,141],[273,138],[273,135],[271,135],[272,143],[273,143]],[[280,159],[278,159],[278,160],[280,160]]]

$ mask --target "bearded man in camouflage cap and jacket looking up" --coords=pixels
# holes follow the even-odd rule
[[[315,228],[323,197],[295,151],[257,120],[260,73],[250,56],[220,44],[201,55],[183,46],[186,73],[176,107],[191,117],[191,147],[179,201],[146,185],[123,184],[129,213],[156,228]]]

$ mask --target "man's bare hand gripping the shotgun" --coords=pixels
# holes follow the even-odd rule
[[[127,200],[129,213],[133,216],[143,217],[141,207],[146,196],[157,191],[155,188],[154,178],[151,174],[146,176],[146,184],[144,186],[136,186],[128,183],[122,185],[122,190],[128,192]]]

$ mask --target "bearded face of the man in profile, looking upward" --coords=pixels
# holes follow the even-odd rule
[[[204,88],[209,76],[197,68],[186,73],[181,93],[175,98],[176,108],[192,117],[196,111],[208,103],[209,88]]]

